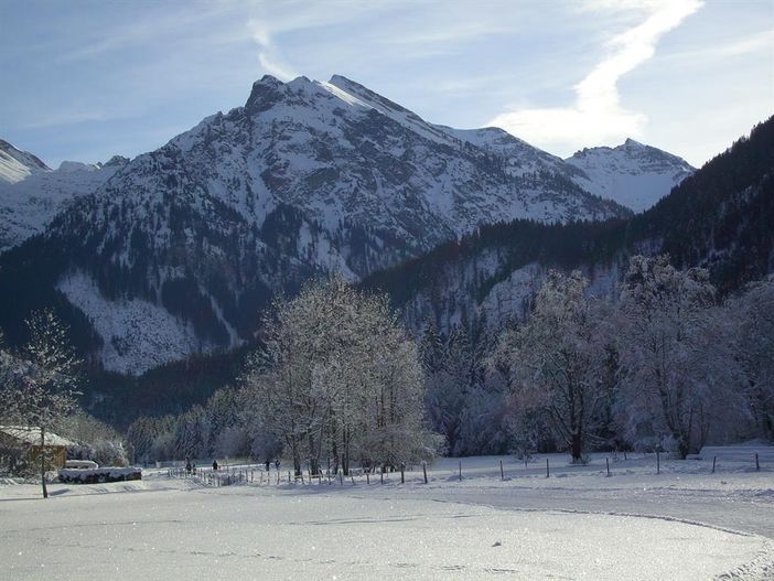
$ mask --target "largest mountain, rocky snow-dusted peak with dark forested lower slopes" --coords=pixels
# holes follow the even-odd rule
[[[249,341],[275,295],[319,273],[359,280],[501,220],[630,214],[558,158],[498,130],[461,135],[341,76],[266,76],[244,107],[110,168],[1,255],[0,326],[21,341],[23,318],[54,304],[105,368],[139,374]]]

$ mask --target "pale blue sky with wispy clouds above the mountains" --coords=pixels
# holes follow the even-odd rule
[[[0,0],[0,138],[54,168],[157,149],[265,74],[700,166],[774,114],[774,0]]]

